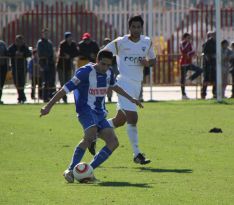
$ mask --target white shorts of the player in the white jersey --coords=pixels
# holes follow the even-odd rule
[[[125,92],[127,92],[131,97],[139,99],[141,92],[141,82],[129,80],[118,75],[116,84],[119,87],[121,87]],[[123,97],[122,95],[117,94],[117,96],[118,96],[118,103],[117,103],[118,110],[128,110],[135,112],[137,111],[136,104],[130,102],[127,98]]]

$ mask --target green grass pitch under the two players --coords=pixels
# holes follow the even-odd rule
[[[83,131],[74,105],[0,106],[0,204],[231,205],[234,203],[234,101],[144,103],[140,148],[152,163],[134,164],[126,128],[120,146],[95,170],[99,184],[62,177]],[[115,104],[108,104],[109,117]],[[218,127],[223,133],[209,133]],[[98,141],[98,149],[103,146]],[[86,152],[83,161],[92,156]]]

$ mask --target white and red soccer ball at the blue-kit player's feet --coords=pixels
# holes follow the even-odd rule
[[[78,182],[86,182],[94,177],[93,167],[85,162],[80,162],[74,167],[73,175]]]

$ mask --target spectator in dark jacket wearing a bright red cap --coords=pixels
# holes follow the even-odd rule
[[[91,39],[90,33],[84,33],[82,35],[82,41],[78,43],[79,50],[79,62],[78,67],[83,66],[88,62],[95,63],[99,46],[96,41]]]

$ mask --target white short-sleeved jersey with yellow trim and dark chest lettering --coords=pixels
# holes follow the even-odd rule
[[[134,81],[143,80],[143,66],[140,61],[144,58],[154,59],[155,53],[152,41],[148,36],[141,35],[138,42],[129,39],[129,35],[118,37],[104,49],[110,50],[116,56],[120,76]]]

